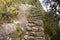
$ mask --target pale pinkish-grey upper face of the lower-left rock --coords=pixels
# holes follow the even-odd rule
[[[4,23],[2,25],[0,25],[0,37],[8,35],[10,33],[13,33],[14,31],[16,31],[16,27],[14,26],[14,24],[7,24]]]

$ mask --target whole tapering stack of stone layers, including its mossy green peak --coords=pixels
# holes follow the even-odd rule
[[[38,10],[34,6],[28,12],[29,15],[26,16],[28,23],[26,24],[26,31],[21,40],[45,40],[41,14],[38,13]]]

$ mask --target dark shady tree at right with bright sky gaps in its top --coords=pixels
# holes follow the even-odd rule
[[[60,40],[59,38],[59,34],[60,34],[60,28],[58,28],[58,24],[59,24],[59,20],[60,20],[60,0],[45,0],[45,5],[48,7],[49,9],[47,14],[45,15],[45,32],[47,32],[48,35],[50,35],[50,33],[53,33],[50,35],[50,40]],[[51,25],[50,25],[51,24]],[[53,25],[55,26],[53,26]],[[47,26],[48,25],[48,26]],[[53,29],[53,30],[52,30]],[[50,32],[48,31],[50,30]],[[56,32],[56,34],[54,35],[54,30]]]

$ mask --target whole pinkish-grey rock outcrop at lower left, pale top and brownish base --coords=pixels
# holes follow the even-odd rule
[[[0,25],[0,40],[20,40],[14,24],[3,23]]]

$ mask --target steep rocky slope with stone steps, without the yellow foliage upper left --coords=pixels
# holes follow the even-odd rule
[[[21,0],[19,13],[11,23],[0,26],[0,40],[45,40],[42,17],[44,11],[38,0]]]

